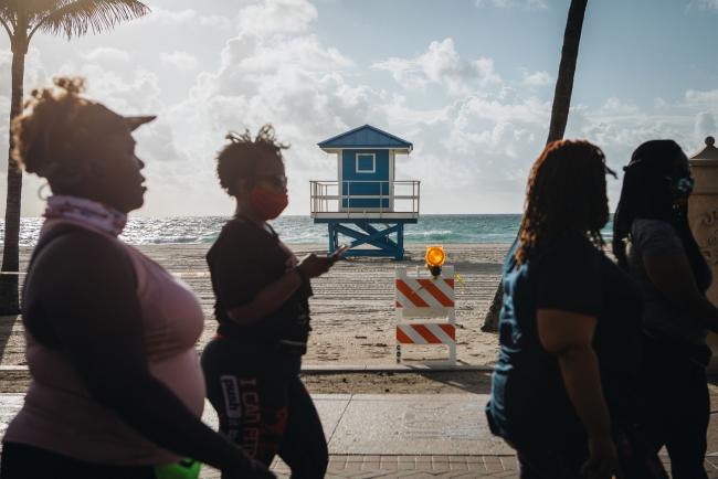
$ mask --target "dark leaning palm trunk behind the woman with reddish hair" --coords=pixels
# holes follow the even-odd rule
[[[588,1],[571,0],[571,6],[569,7],[569,17],[566,20],[566,31],[563,32],[563,47],[561,49],[559,75],[556,79],[556,91],[553,92],[553,107],[551,108],[549,135],[546,140],[547,145],[551,141],[560,140],[566,132],[569,109],[571,107],[571,94],[573,93],[576,62],[579,57],[579,43],[581,42],[581,31],[583,29],[583,18]],[[486,318],[484,318],[482,331],[498,330],[498,315],[503,304],[504,285],[499,281],[494,299],[488,307]]]

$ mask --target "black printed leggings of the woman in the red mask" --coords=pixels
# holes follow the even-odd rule
[[[293,479],[318,479],[327,470],[327,443],[299,366],[297,354],[226,338],[212,340],[202,353],[220,432],[267,467],[278,455]]]

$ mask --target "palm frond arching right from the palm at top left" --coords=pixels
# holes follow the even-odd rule
[[[149,7],[138,0],[55,0],[54,3],[55,9],[34,22],[30,36],[38,30],[64,34],[67,39],[88,31],[99,33],[150,12]]]

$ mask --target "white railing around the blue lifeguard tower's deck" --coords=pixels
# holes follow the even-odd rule
[[[421,182],[347,180],[309,182],[313,217],[419,217]]]

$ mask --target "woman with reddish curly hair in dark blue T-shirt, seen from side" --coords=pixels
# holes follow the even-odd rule
[[[522,479],[665,478],[635,440],[641,292],[603,253],[603,152],[555,141],[534,163],[504,264],[499,356],[486,407]]]

